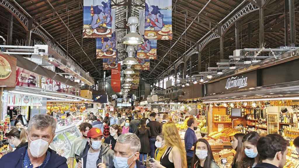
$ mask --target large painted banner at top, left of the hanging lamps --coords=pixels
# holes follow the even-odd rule
[[[111,0],[84,0],[83,38],[111,37]]]

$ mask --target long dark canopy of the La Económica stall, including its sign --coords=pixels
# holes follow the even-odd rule
[[[204,102],[299,95],[299,49],[266,59],[205,85]],[[291,97],[289,97],[291,98]],[[292,97],[294,98],[294,97]],[[245,100],[244,100],[245,101]]]

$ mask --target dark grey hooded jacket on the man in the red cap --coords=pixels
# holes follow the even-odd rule
[[[90,148],[89,143],[86,143],[85,149],[80,155],[80,158],[83,158],[82,168],[86,168],[86,159],[87,159],[89,148]],[[102,161],[102,156],[103,156],[103,161]],[[97,164],[105,163],[106,168],[114,168],[113,156],[114,156],[114,152],[112,149],[110,149],[109,145],[107,143],[102,143],[100,155],[99,158],[97,159]]]

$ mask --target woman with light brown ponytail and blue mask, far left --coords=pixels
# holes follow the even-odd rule
[[[8,138],[8,142],[13,148],[19,149],[28,145],[26,130],[24,128],[14,128],[10,132],[6,133],[5,136]]]

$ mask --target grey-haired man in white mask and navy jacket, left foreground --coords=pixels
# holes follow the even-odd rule
[[[0,159],[5,168],[67,168],[66,158],[49,148],[53,141],[56,121],[46,114],[33,116],[27,129],[28,146],[4,155]]]

